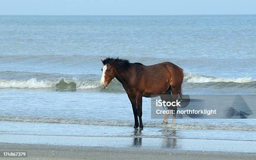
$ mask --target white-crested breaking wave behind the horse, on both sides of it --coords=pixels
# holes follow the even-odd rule
[[[16,73],[15,73],[16,74]],[[28,74],[28,73],[26,73]],[[33,75],[30,75],[30,77]],[[66,78],[57,78],[59,75],[44,75],[46,80],[37,80],[36,77],[32,77],[29,80],[4,80],[0,79],[0,88],[55,88],[56,90],[88,90],[99,88],[100,89],[100,77],[95,75],[87,75],[92,77],[93,80],[81,80],[80,77],[72,78],[72,75],[64,75]],[[51,80],[54,77],[55,80]],[[42,75],[40,75],[42,79]],[[58,79],[58,80],[56,80]],[[83,79],[83,77],[82,77]],[[185,88],[195,87],[244,87],[244,88],[256,88],[256,80],[251,77],[243,78],[223,78],[223,77],[210,77],[205,75],[197,75],[192,73],[186,73],[184,76],[183,86]],[[107,88],[108,91],[120,91],[123,90],[122,85],[118,80],[113,80]]]

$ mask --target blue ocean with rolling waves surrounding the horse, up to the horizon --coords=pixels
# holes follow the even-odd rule
[[[182,67],[184,94],[254,95],[255,42],[256,15],[2,15],[0,134],[256,141],[254,119],[163,125],[145,97],[138,135],[118,80],[100,89],[101,60],[120,57]]]

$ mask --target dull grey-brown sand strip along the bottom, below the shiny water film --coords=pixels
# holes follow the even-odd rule
[[[153,150],[142,148],[109,148],[61,145],[31,145],[0,143],[1,150],[26,150],[24,160],[253,160],[256,153],[186,151],[186,150]],[[118,147],[118,146],[117,146]],[[1,158],[2,159],[2,158]],[[17,158],[8,158],[8,160]]]

